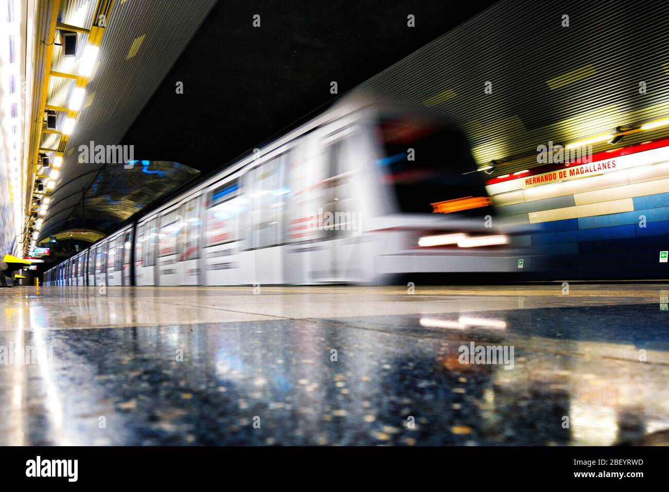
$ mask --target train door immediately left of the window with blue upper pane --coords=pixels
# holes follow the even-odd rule
[[[189,199],[179,210],[181,220],[177,222],[181,225],[179,230],[181,254],[179,254],[177,282],[180,285],[203,284],[199,265],[202,251],[202,197],[203,195],[200,195]]]

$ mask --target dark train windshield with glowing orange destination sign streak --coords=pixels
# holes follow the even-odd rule
[[[490,208],[459,131],[421,116],[386,118],[379,130],[385,157],[377,166],[401,212],[479,215]]]

